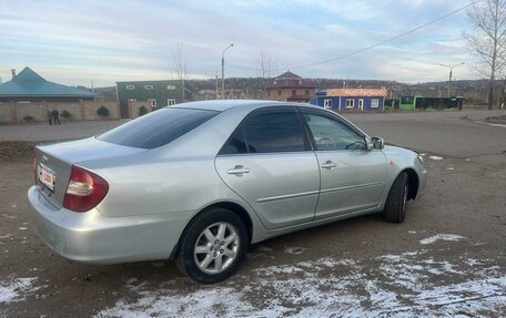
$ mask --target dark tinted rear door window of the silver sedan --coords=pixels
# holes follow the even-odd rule
[[[269,112],[247,117],[220,154],[302,152],[305,143],[295,112]]]

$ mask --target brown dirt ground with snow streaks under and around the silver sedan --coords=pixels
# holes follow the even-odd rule
[[[54,255],[27,214],[31,145],[0,146],[0,317],[506,316],[505,154],[427,153],[426,194],[405,223],[370,215],[277,237],[199,286],[173,263]]]

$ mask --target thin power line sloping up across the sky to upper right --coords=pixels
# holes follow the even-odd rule
[[[372,45],[362,48],[362,49],[360,49],[360,50],[356,50],[356,51],[353,51],[353,52],[350,52],[350,53],[345,53],[345,54],[342,54],[342,55],[337,55],[337,57],[335,57],[335,58],[332,58],[332,59],[328,59],[328,60],[323,60],[323,61],[320,61],[320,62],[314,62],[314,63],[303,64],[303,65],[296,65],[296,66],[290,66],[290,68],[286,68],[286,69],[277,69],[277,70],[273,70],[273,71],[306,69],[306,68],[311,68],[311,66],[315,66],[315,65],[326,64],[326,63],[330,63],[330,62],[334,62],[334,61],[337,61],[337,60],[342,60],[342,59],[345,59],[345,58],[348,58],[348,57],[352,57],[352,55],[355,55],[355,54],[358,54],[358,53],[368,51],[368,50],[371,50],[371,49],[381,47],[381,45],[383,45],[383,44],[385,44],[385,43],[388,43],[388,42],[395,41],[395,40],[397,40],[397,39],[399,39],[399,38],[403,38],[403,37],[406,37],[406,35],[408,35],[408,34],[412,34],[412,33],[414,33],[414,32],[416,32],[416,31],[418,31],[418,30],[421,30],[421,29],[424,29],[424,28],[426,28],[426,27],[428,27],[428,25],[431,25],[431,24],[434,24],[434,23],[436,23],[436,22],[443,20],[443,19],[446,19],[446,18],[448,18],[448,17],[451,17],[451,16],[453,16],[453,14],[456,14],[456,13],[458,13],[458,12],[461,12],[461,11],[463,11],[463,10],[465,10],[465,9],[467,9],[467,8],[469,8],[470,6],[475,4],[476,2],[478,2],[478,1],[473,1],[473,2],[470,2],[470,3],[468,3],[468,4],[466,4],[466,6],[464,6],[464,7],[459,8],[459,9],[457,9],[457,10],[454,10],[454,11],[452,11],[452,12],[448,12],[448,13],[444,14],[444,16],[441,16],[441,17],[434,19],[434,20],[431,20],[431,21],[428,21],[428,22],[422,24],[422,25],[418,25],[418,27],[416,27],[416,28],[414,28],[414,29],[411,29],[411,30],[405,31],[405,32],[403,32],[403,33],[401,33],[401,34],[397,34],[397,35],[394,35],[394,37],[388,38],[388,39],[386,39],[386,40],[383,40],[383,41],[381,41],[381,42],[377,42],[377,43],[375,43],[375,44],[372,44]],[[256,69],[253,69],[253,68],[250,68],[250,66],[244,66],[244,65],[236,65],[236,64],[233,65],[233,64],[231,64],[231,66],[232,66],[232,68],[235,68],[235,69],[246,70],[246,71],[257,71]]]

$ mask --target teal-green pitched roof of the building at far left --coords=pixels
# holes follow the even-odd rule
[[[0,102],[78,102],[92,101],[98,94],[44,80],[30,68],[0,84]]]

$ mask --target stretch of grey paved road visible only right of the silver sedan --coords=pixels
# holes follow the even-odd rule
[[[367,134],[433,154],[468,157],[506,152],[506,125],[480,120],[506,111],[427,112],[346,116]],[[466,117],[468,120],[463,120]]]

